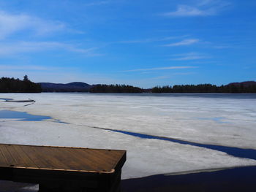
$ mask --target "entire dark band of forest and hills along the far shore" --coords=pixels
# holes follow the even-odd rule
[[[138,88],[132,85],[89,85],[85,82],[56,84],[35,83],[25,75],[23,80],[1,77],[0,93],[41,93],[41,92],[90,92],[90,93],[256,93],[256,82],[232,82],[227,85],[165,85],[154,88]]]

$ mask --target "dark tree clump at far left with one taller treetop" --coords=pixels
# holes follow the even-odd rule
[[[23,80],[8,77],[0,79],[0,93],[40,93],[41,91],[41,86],[31,82],[27,75]]]

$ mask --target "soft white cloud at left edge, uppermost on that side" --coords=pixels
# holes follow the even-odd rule
[[[49,34],[53,31],[63,30],[64,23],[42,20],[25,14],[10,14],[0,11],[0,39],[20,31],[31,31],[34,34]]]

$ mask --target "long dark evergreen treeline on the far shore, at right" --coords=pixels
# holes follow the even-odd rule
[[[256,83],[230,83],[228,85],[174,85],[157,86],[152,93],[256,93]]]

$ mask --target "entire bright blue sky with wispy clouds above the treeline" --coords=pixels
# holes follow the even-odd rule
[[[216,85],[256,80],[255,0],[0,0],[0,77]]]

